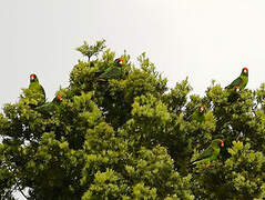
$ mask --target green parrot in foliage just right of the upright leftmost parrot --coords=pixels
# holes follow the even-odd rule
[[[53,113],[60,110],[60,103],[62,101],[61,96],[57,96],[52,102],[47,102],[40,107],[37,107],[35,110],[47,117],[52,116]]]

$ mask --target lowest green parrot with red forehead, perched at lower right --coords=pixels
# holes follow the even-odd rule
[[[195,163],[207,163],[207,166],[210,166],[210,163],[214,160],[216,160],[216,158],[220,154],[220,147],[224,147],[224,140],[222,139],[215,139],[211,142],[210,147],[207,149],[205,149],[196,160],[191,162],[192,164]]]

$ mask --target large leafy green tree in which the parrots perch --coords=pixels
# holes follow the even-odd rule
[[[96,81],[115,53],[104,40],[78,48],[60,109],[43,114],[24,93],[0,114],[0,193],[28,199],[263,199],[265,84],[191,94],[187,79],[167,89],[145,53],[124,53],[122,78]],[[93,56],[95,60],[91,60]],[[22,90],[26,92],[27,90]],[[205,111],[198,113],[198,108]],[[190,166],[223,138],[211,166]],[[26,192],[27,191],[27,192]]]

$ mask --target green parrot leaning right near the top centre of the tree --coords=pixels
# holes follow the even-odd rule
[[[109,67],[103,73],[101,73],[95,80],[99,81],[108,81],[110,79],[120,79],[122,76],[122,58],[118,58],[114,60],[114,63]]]

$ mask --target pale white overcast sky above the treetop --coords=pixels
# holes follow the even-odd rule
[[[243,67],[247,88],[265,81],[264,0],[0,1],[0,106],[16,102],[35,72],[51,100],[86,40],[105,39],[133,60],[146,51],[170,86],[190,78],[203,94],[228,84]]]

